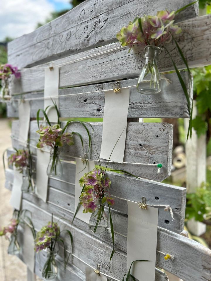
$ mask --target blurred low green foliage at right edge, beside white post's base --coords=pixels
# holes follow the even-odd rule
[[[195,193],[186,196],[186,218],[203,222],[211,218],[211,185],[203,183]]]

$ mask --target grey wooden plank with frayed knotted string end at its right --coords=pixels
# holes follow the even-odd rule
[[[47,201],[68,212],[74,213],[75,204],[75,165],[62,163],[64,174],[62,179],[49,179]],[[127,200],[142,201],[141,197],[147,198],[147,204],[170,205],[174,219],[170,212],[160,207],[158,212],[158,226],[181,233],[184,226],[186,189],[178,186],[162,184],[145,179],[135,179],[130,176],[108,172],[111,180],[110,192],[115,198],[112,209],[127,215]],[[11,189],[13,183],[13,171],[6,171],[6,188]],[[36,184],[36,182],[35,182]],[[123,199],[124,198],[124,199]],[[79,199],[77,199],[79,200]],[[108,213],[108,210],[106,209]],[[109,214],[108,214],[109,216]],[[118,217],[118,213],[116,213]]]

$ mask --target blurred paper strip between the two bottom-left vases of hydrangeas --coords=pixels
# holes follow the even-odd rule
[[[34,251],[34,237],[30,227],[24,226],[23,237],[23,261],[28,266],[31,272],[34,272],[35,267],[35,251]]]

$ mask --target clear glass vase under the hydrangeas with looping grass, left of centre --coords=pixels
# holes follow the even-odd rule
[[[57,147],[50,150],[50,162],[47,167],[47,175],[50,177],[61,177],[63,173],[62,164],[59,159],[60,149]]]

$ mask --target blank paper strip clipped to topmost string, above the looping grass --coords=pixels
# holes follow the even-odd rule
[[[49,67],[45,68],[45,85],[44,85],[44,109],[46,109],[47,106],[48,109],[48,119],[50,122],[57,123],[57,112],[55,108],[53,108],[53,102],[56,102],[57,107],[59,105],[59,67],[53,66],[53,69],[50,70]],[[51,100],[52,98],[52,100]]]

